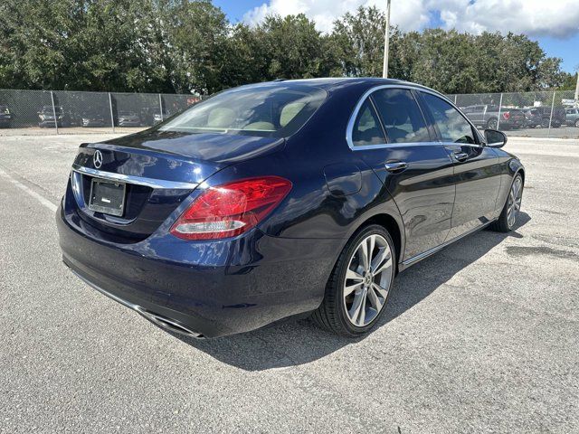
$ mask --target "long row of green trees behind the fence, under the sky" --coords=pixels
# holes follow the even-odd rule
[[[0,87],[198,92],[277,78],[382,75],[384,13],[324,34],[304,14],[230,24],[211,0],[4,0]],[[389,76],[446,93],[573,87],[525,35],[390,29]]]

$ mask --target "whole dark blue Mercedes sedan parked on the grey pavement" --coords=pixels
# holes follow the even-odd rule
[[[223,91],[81,145],[57,212],[63,260],[177,333],[312,315],[361,335],[396,273],[485,226],[516,225],[525,172],[506,141],[403,81]]]

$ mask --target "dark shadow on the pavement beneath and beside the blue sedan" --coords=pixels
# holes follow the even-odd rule
[[[510,233],[479,231],[447,247],[431,258],[404,270],[395,280],[384,316],[375,327],[383,327],[468,267],[508,237],[523,238],[517,230],[531,219],[525,212]],[[246,371],[295,366],[313,362],[365,337],[346,338],[318,328],[309,319],[289,320],[242,335],[196,340],[174,335],[215,359]]]

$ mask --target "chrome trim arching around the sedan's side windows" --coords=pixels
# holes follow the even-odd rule
[[[389,147],[389,146],[395,146],[395,145],[403,145],[403,146],[417,146],[417,145],[421,145],[421,146],[432,146],[432,145],[441,145],[441,141],[438,140],[433,140],[430,142],[408,142],[408,143],[379,143],[376,145],[365,145],[365,146],[354,146],[354,142],[352,141],[352,131],[354,130],[354,123],[356,122],[356,118],[358,116],[358,111],[360,111],[360,108],[362,107],[362,105],[365,103],[365,100],[372,95],[376,90],[382,90],[382,89],[407,89],[407,90],[415,90],[417,92],[424,92],[424,93],[430,93],[431,95],[438,97],[446,102],[448,102],[449,104],[451,104],[451,106],[454,109],[459,110],[460,115],[462,116],[462,118],[465,118],[467,122],[469,122],[470,127],[473,127],[474,130],[476,131],[476,134],[479,136],[479,141],[481,142],[481,144],[485,143],[483,140],[483,137],[481,137],[480,133],[479,133],[479,129],[477,127],[474,126],[474,124],[470,121],[469,118],[466,117],[466,115],[464,115],[464,113],[462,113],[462,110],[460,110],[460,108],[454,104],[451,99],[448,99],[446,96],[442,95],[441,93],[437,92],[436,90],[431,90],[428,88],[422,88],[422,86],[413,86],[413,85],[407,85],[407,84],[381,84],[378,86],[375,86],[374,88],[371,88],[369,90],[366,90],[364,92],[364,94],[360,97],[360,99],[358,99],[358,102],[356,104],[356,107],[354,108],[354,110],[352,111],[352,114],[350,115],[350,118],[347,122],[347,127],[346,127],[346,142],[347,142],[347,146],[350,147],[350,149],[352,149],[353,151],[365,151],[368,149],[383,149],[384,147]],[[372,101],[372,100],[371,100]],[[422,111],[422,107],[420,106],[419,102],[416,101],[416,104],[418,104],[418,108],[421,109]],[[374,102],[372,102],[373,107],[374,106]],[[377,109],[375,109],[376,113],[378,112]],[[378,113],[379,116],[379,113]],[[430,124],[430,121],[428,118],[426,118],[425,114],[422,113],[422,117],[424,118],[424,122],[426,122],[427,126],[428,124]],[[453,143],[452,145],[457,145],[456,143]],[[480,146],[478,144],[473,144],[473,146]],[[482,146],[481,146],[482,147]]]

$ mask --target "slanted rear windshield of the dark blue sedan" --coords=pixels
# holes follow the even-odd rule
[[[161,131],[288,137],[326,99],[325,90],[275,84],[225,90],[168,119]]]

